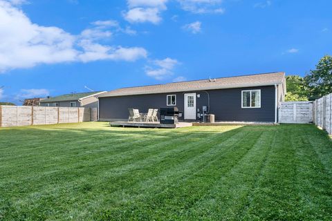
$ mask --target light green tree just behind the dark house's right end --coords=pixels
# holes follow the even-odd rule
[[[289,75],[286,77],[287,94],[286,102],[307,101],[308,93],[303,77]]]

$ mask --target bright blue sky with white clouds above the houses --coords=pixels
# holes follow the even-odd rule
[[[332,1],[0,0],[0,101],[284,71],[332,54]]]

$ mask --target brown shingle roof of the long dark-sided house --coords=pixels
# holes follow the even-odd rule
[[[155,93],[174,93],[194,90],[214,90],[223,88],[244,88],[252,86],[268,86],[284,83],[285,73],[264,73],[256,75],[243,75],[236,77],[221,77],[203,79],[198,81],[183,81],[170,84],[157,84],[151,86],[139,86],[132,88],[120,88],[102,93],[96,97],[116,97],[124,95],[145,95]]]

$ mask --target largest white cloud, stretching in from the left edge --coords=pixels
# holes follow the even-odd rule
[[[95,42],[111,37],[112,32],[105,28],[115,24],[114,21],[95,21],[95,27],[83,30],[81,35],[71,35],[61,28],[32,23],[19,8],[0,0],[0,72],[37,64],[98,59],[133,61],[146,57],[144,48],[102,46]],[[86,49],[89,47],[84,42],[94,47],[93,53]]]

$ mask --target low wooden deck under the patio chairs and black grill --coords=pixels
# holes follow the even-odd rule
[[[160,122],[109,122],[111,126],[132,126],[132,127],[147,127],[147,128],[181,128],[192,126],[192,123],[179,122],[178,124],[160,124]]]

